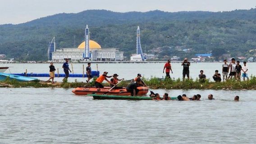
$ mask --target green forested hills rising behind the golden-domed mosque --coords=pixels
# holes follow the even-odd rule
[[[0,25],[0,54],[16,60],[46,60],[48,43],[53,36],[57,48],[73,47],[74,36],[78,46],[84,39],[86,24],[92,40],[102,47],[119,47],[127,56],[136,51],[137,25],[141,28],[142,49],[146,52],[156,47],[171,47],[160,52],[159,57],[193,57],[195,53],[215,54],[215,51],[251,56],[249,49],[256,49],[256,9],[175,13],[86,10],[17,25]],[[176,46],[192,52],[178,51]],[[219,55],[216,53],[216,56]]]

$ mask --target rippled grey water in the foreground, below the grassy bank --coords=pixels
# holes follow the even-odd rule
[[[255,144],[255,91],[153,91],[202,100],[93,100],[71,89],[0,88],[0,144]],[[210,93],[216,100],[206,99]]]

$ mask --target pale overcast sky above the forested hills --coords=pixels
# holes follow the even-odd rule
[[[53,14],[78,13],[88,9],[217,12],[251,8],[256,8],[256,0],[0,0],[0,24],[26,23]]]

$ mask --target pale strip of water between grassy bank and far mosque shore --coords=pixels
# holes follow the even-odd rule
[[[207,78],[212,80],[212,76],[215,73],[215,70],[219,70],[222,75],[222,64],[223,63],[191,63],[190,66],[190,76],[192,78],[198,77],[200,70],[204,70]],[[47,63],[14,63],[11,64],[10,72],[12,73],[22,73],[27,69],[28,73],[48,73],[49,65]],[[55,63],[55,68],[59,68],[59,73],[64,73],[61,63]],[[74,73],[82,74],[82,63],[73,63],[73,71]],[[84,63],[84,66],[87,67],[87,63]],[[69,64],[71,69],[71,64]],[[142,76],[150,78],[151,76],[156,76],[162,78],[165,76],[163,73],[164,63],[99,63],[98,70],[102,74],[104,71],[109,72],[110,75],[117,73],[119,78],[125,78],[126,80],[133,79],[137,76],[137,73],[141,73]],[[91,64],[92,70],[96,70],[96,64]],[[256,74],[256,63],[248,63],[248,75],[251,76]],[[182,77],[183,67],[181,63],[172,63],[173,74],[171,77],[175,79]],[[9,72],[7,70],[6,72]],[[57,73],[57,72],[56,72]],[[48,78],[40,77],[41,80],[47,80]],[[55,78],[56,81],[61,81],[63,78]],[[69,78],[69,81],[74,81],[77,79],[78,81],[84,81],[85,78]]]

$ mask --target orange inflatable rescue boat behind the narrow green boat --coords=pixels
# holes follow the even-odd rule
[[[139,86],[137,87],[139,90],[137,96],[146,95],[148,92],[148,88],[145,86]],[[77,87],[72,90],[74,94],[77,95],[87,95],[87,94],[105,94],[110,90],[110,87],[105,88],[96,88],[96,87]],[[126,91],[126,88],[123,87],[122,89],[112,89],[106,94],[111,95],[130,95],[131,93]]]

